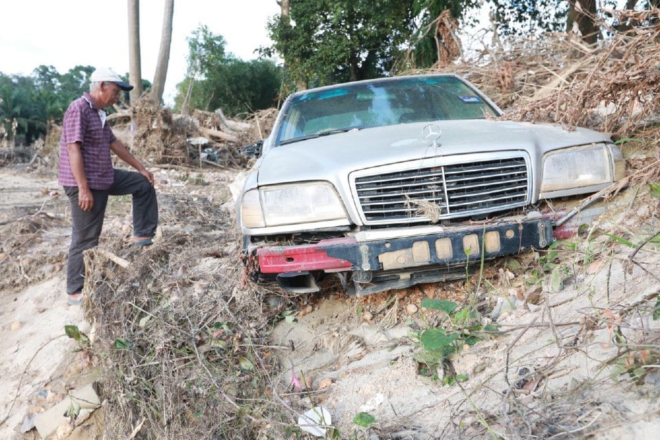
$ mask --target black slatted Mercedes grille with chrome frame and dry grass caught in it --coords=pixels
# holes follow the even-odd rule
[[[523,157],[357,177],[367,224],[439,221],[525,206]]]

